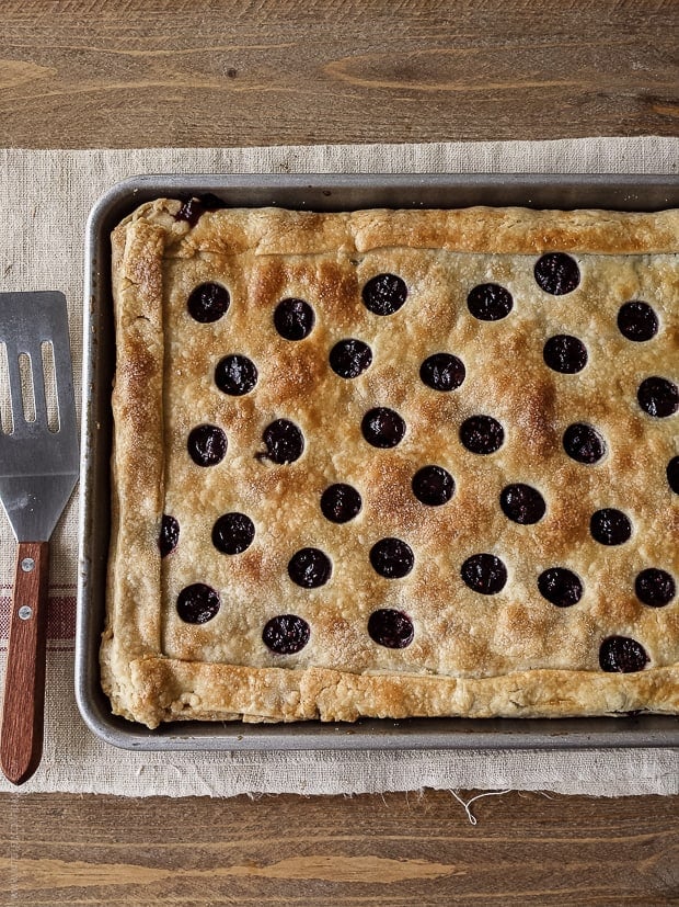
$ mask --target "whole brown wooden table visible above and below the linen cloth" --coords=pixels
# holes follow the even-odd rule
[[[676,135],[678,13],[5,0],[0,145]],[[511,793],[473,804],[473,827],[448,792],[2,795],[0,904],[678,904],[678,806]]]

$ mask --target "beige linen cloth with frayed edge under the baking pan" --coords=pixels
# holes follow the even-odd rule
[[[114,183],[182,172],[677,173],[674,138],[229,149],[0,150],[0,291],[60,290],[69,302],[77,397],[82,361],[85,219]],[[80,406],[80,401],[79,401]],[[0,509],[1,510],[1,509]],[[672,750],[168,752],[95,738],[73,696],[78,491],[53,536],[45,748],[25,792],[185,796],[350,794],[433,789],[541,790],[618,796],[679,793]],[[0,513],[0,678],[14,538]],[[2,681],[0,680],[0,684]],[[0,791],[16,790],[0,776]]]

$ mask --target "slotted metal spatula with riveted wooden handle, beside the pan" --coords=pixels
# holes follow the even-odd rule
[[[43,752],[48,543],[78,479],[62,293],[0,293],[0,500],[19,542],[0,763],[23,784]]]

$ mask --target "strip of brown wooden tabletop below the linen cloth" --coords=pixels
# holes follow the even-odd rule
[[[678,806],[511,793],[472,804],[471,826],[448,792],[5,795],[0,904],[677,904]]]

